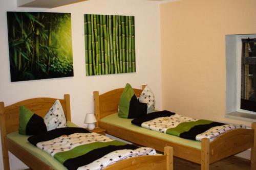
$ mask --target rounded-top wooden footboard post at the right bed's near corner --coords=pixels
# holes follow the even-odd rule
[[[201,170],[209,170],[209,139],[201,140]]]

